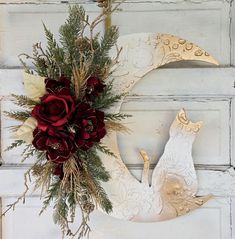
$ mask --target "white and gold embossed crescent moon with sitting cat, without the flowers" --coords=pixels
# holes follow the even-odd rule
[[[150,71],[176,61],[218,62],[200,47],[172,35],[143,33],[119,38],[122,46],[119,64],[112,74],[116,93],[127,93]],[[157,79],[156,79],[157,84]],[[111,111],[118,113],[122,102]],[[192,158],[192,144],[202,122],[192,123],[181,110],[170,128],[170,138],[148,182],[149,157],[144,150],[142,181],[139,182],[124,164],[115,132],[103,142],[117,158],[102,154],[111,175],[103,187],[113,204],[112,216],[135,222],[156,222],[175,218],[207,202],[211,195],[197,197],[198,182]]]

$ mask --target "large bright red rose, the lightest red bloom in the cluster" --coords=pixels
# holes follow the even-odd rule
[[[70,95],[47,94],[41,98],[41,104],[32,110],[32,116],[38,121],[38,128],[46,131],[49,126],[59,127],[66,124],[74,111],[74,101]]]

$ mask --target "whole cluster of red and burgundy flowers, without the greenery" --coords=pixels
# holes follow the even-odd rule
[[[77,149],[88,150],[106,135],[104,112],[91,106],[105,85],[90,77],[84,100],[78,101],[71,94],[67,77],[47,78],[45,84],[47,94],[32,110],[38,122],[32,143],[38,150],[46,151],[48,160],[61,164]]]

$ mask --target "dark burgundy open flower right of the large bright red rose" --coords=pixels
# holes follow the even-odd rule
[[[88,150],[105,135],[104,112],[80,103],[74,112],[75,144],[82,150]]]

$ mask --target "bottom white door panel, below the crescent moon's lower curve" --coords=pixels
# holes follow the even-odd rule
[[[3,200],[3,207],[13,198]],[[60,233],[52,222],[52,209],[38,217],[41,203],[38,198],[27,198],[14,213],[3,219],[4,239],[58,239]],[[92,239],[213,239],[231,238],[230,199],[215,198],[191,214],[160,223],[133,223],[113,219],[95,212],[91,217]],[[23,219],[23,220],[22,220]],[[49,236],[50,235],[50,236]]]

